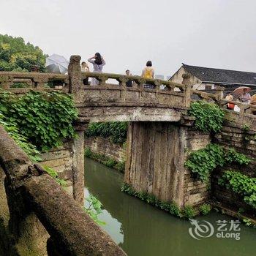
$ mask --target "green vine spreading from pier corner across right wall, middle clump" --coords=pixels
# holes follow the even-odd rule
[[[192,173],[196,173],[202,181],[208,181],[211,172],[217,167],[236,163],[248,165],[251,160],[234,148],[224,148],[217,144],[209,144],[206,148],[192,152],[185,162]]]

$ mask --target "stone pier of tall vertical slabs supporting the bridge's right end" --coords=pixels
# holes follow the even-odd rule
[[[189,151],[204,148],[209,135],[170,122],[131,122],[127,138],[124,182],[137,192],[155,195],[180,208],[203,203],[206,184],[184,167]]]

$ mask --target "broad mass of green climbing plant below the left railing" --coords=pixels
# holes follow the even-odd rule
[[[61,146],[64,138],[75,135],[72,123],[78,111],[67,94],[30,91],[17,97],[0,90],[0,110],[3,121],[17,127],[39,151]]]

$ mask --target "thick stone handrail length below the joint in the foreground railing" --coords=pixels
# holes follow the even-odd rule
[[[23,189],[61,255],[125,255],[48,175],[27,179]]]

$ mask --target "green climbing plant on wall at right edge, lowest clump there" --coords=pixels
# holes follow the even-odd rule
[[[218,182],[219,185],[244,196],[244,201],[256,209],[256,178],[251,178],[237,171],[226,170]]]

